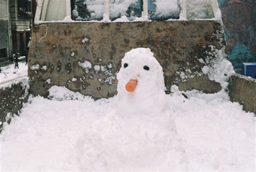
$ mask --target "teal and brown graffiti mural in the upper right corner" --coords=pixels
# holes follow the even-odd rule
[[[242,62],[256,62],[256,1],[218,0],[227,50],[237,73]]]

